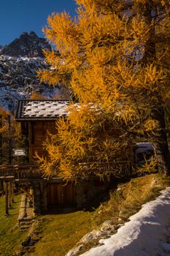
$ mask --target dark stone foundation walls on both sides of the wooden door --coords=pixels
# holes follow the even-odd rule
[[[106,190],[108,187],[108,182],[99,181],[98,179],[91,179],[87,181],[78,182],[77,184],[75,184],[74,190],[72,190],[72,193],[75,193],[75,203],[72,204],[72,202],[68,202],[68,206],[63,206],[63,205],[60,206],[60,204],[57,205],[56,203],[56,209],[55,208],[52,209],[52,208],[49,208],[48,206],[48,203],[50,202],[50,200],[49,198],[47,198],[48,197],[47,190],[49,193],[49,189],[47,189],[47,186],[55,186],[55,184],[61,184],[61,187],[63,186],[64,188],[64,184],[61,181],[60,182],[39,181],[39,182],[34,182],[32,184],[34,215],[44,214],[44,213],[47,213],[47,211],[49,210],[50,211],[56,210],[56,212],[61,212],[61,209],[63,210],[63,208],[69,208],[69,210],[71,208],[74,208],[74,210],[76,208],[81,209],[85,206],[90,205],[92,201],[95,201],[96,197],[98,197],[98,195],[101,195],[102,192],[104,192],[104,190]],[[52,193],[56,193],[56,202],[58,202],[58,195],[59,195],[58,193],[61,193],[61,191],[55,190],[55,189],[52,189],[51,191]],[[53,198],[55,200],[55,194],[53,195]]]

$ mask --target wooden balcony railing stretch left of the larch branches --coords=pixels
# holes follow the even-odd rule
[[[35,165],[0,165],[0,179],[11,177],[16,179],[23,178],[42,178],[42,171]]]

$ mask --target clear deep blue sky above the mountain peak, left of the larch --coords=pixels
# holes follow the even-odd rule
[[[43,37],[42,27],[52,12],[75,15],[74,0],[0,0],[0,45],[7,45],[23,31]]]

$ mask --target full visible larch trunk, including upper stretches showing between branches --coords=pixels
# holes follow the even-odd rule
[[[151,4],[152,1],[150,1]],[[145,44],[144,56],[143,56],[143,64],[155,64],[156,62],[156,50],[155,50],[155,21],[152,23],[152,4],[146,4],[146,11],[144,13],[145,21],[150,28],[150,37],[148,38]],[[153,85],[154,86],[154,85]],[[161,99],[161,95],[158,93],[153,93],[156,99],[155,102],[152,102],[151,105],[151,117],[157,123],[157,127],[155,128],[154,135],[152,137],[152,145],[155,151],[155,156],[158,161],[158,172],[163,175],[170,174],[170,154],[169,154],[169,146],[166,135],[166,122],[164,110],[162,107],[163,100]]]

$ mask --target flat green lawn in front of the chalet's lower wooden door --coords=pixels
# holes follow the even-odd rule
[[[38,217],[42,239],[36,244],[30,256],[60,256],[90,232],[93,213],[77,211],[69,214],[52,214]]]

